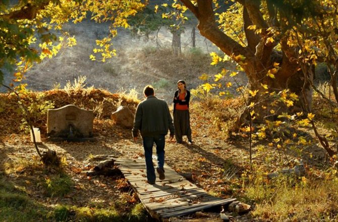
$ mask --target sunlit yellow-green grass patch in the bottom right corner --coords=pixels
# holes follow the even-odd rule
[[[295,180],[279,176],[270,183],[254,183],[246,196],[258,204],[254,217],[272,221],[336,221],[338,180]]]

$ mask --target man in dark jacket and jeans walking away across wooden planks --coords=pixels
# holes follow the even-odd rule
[[[159,174],[159,179],[164,180],[165,135],[168,133],[168,130],[170,130],[170,140],[174,138],[174,124],[168,105],[164,100],[154,96],[154,88],[148,85],[144,87],[143,93],[146,99],[140,102],[136,108],[132,134],[136,142],[138,132],[141,132],[147,180],[149,184],[155,184],[156,175],[152,163],[152,147],[155,143],[157,154],[156,171]]]

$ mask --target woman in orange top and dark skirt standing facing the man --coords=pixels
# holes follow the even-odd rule
[[[189,144],[192,143],[189,101],[190,91],[186,89],[186,82],[179,80],[177,82],[178,90],[174,95],[174,127],[177,143],[182,143],[182,137],[187,136]]]

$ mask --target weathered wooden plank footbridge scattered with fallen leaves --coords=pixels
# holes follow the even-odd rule
[[[189,214],[213,206],[229,204],[236,199],[213,197],[164,165],[165,180],[156,173],[156,184],[146,183],[144,159],[115,159],[115,164],[137,192],[147,211],[157,218]]]

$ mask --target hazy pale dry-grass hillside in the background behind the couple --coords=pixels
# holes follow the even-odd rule
[[[203,73],[217,74],[221,67],[210,66],[209,53],[218,49],[196,31],[196,47],[191,48],[192,25],[187,25],[182,34],[182,57],[174,57],[171,52],[172,34],[162,27],[149,39],[132,36],[129,30],[119,29],[112,42],[117,56],[106,63],[91,61],[89,55],[95,47],[95,40],[108,32],[107,24],[97,24],[85,20],[80,24],[66,24],[65,31],[75,36],[77,45],[63,48],[52,59],[45,59],[26,73],[24,83],[32,90],[64,88],[79,76],[87,78],[87,86],[102,88],[112,93],[136,89],[139,98],[143,97],[145,85],[157,88],[156,94],[171,102],[176,83],[185,79],[188,87],[196,88],[202,83],[198,79]],[[243,77],[241,77],[243,78]],[[11,76],[7,76],[9,84]],[[244,77],[244,84],[246,78]]]

